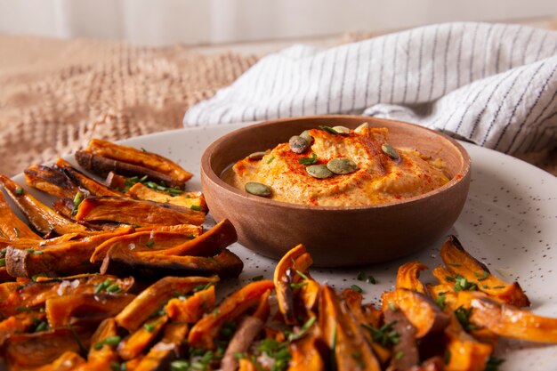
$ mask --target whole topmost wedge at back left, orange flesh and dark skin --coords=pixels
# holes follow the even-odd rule
[[[183,188],[192,174],[168,158],[157,154],[93,139],[76,153],[77,163],[93,173],[106,176],[110,171],[125,176],[148,175],[151,180]]]

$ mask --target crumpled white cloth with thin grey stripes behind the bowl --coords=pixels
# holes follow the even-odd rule
[[[417,123],[505,153],[557,145],[557,32],[447,23],[294,45],[191,107],[185,126],[322,114]]]

